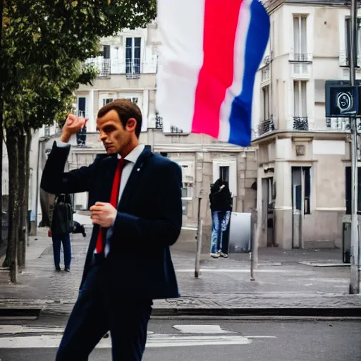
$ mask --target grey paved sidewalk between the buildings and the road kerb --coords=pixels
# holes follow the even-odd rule
[[[68,313],[78,295],[85,261],[87,238],[72,235],[71,273],[54,271],[51,239],[39,228],[27,247],[27,267],[19,283],[8,283],[0,271],[0,310],[39,307],[44,312]],[[250,281],[248,255],[212,259],[202,255],[200,279],[194,277],[195,254],[172,250],[182,297],[157,300],[154,314],[282,313],[295,309],[308,313],[348,310],[361,316],[360,295],[348,295],[349,267],[312,267],[310,264],[340,264],[341,250],[259,250],[255,281]],[[300,263],[301,262],[301,263]],[[312,311],[313,309],[313,311]],[[318,311],[314,310],[317,309]]]

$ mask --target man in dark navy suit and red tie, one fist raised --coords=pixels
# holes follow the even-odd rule
[[[84,121],[68,116],[42,174],[47,192],[89,192],[94,224],[56,361],[88,360],[109,330],[113,360],[141,360],[152,300],[179,296],[169,246],[181,232],[181,168],[139,143],[140,109],[118,99],[97,116],[106,154],[65,173],[66,143]]]

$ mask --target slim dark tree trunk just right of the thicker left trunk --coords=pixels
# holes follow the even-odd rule
[[[25,253],[26,253],[26,224],[27,216],[25,212],[25,187],[26,187],[26,135],[22,133],[18,136],[18,267],[23,269],[25,267]]]

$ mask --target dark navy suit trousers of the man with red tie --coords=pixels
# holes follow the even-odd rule
[[[106,274],[106,261],[93,264],[88,271],[68,319],[56,361],[88,360],[108,331],[111,332],[113,361],[142,360],[152,300],[135,300],[129,295],[117,294],[111,290]]]

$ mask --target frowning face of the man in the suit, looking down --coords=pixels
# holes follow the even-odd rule
[[[103,142],[106,153],[114,154],[121,153],[128,143],[132,135],[132,124],[136,123],[134,119],[130,119],[130,127],[128,123],[126,129],[123,128],[118,113],[111,110],[106,113],[102,118],[97,118],[97,130],[99,130],[99,138]]]

